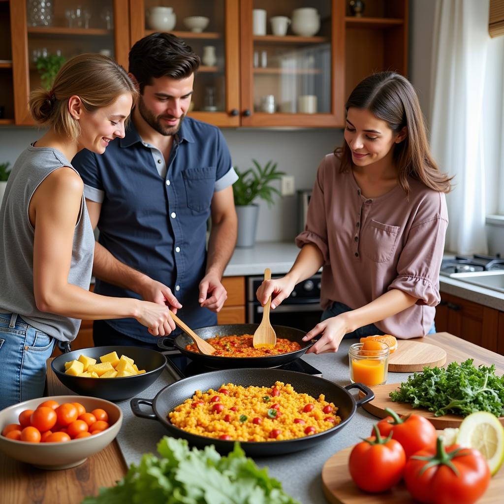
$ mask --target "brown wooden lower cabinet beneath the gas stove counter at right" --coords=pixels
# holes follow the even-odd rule
[[[504,312],[441,293],[436,306],[436,332],[449,332],[504,355]]]

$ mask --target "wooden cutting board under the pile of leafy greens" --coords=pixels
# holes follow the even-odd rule
[[[409,415],[410,413],[415,413],[416,415],[424,416],[429,420],[429,422],[436,429],[446,429],[447,427],[459,427],[464,419],[460,415],[444,415],[444,416],[434,416],[434,413],[427,411],[423,408],[413,408],[411,404],[408,403],[395,403],[389,397],[389,394],[400,387],[399,383],[391,383],[386,385],[380,385],[378,387],[371,387],[374,392],[374,399],[362,407],[371,415],[377,416],[378,418],[385,418],[388,414],[385,408],[393,409],[399,415]],[[500,423],[504,425],[504,417],[499,418]]]

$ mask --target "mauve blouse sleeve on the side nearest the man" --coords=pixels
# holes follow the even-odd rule
[[[322,252],[324,264],[329,264],[329,246],[327,239],[326,201],[324,198],[325,159],[317,171],[317,178],[313,185],[306,226],[304,231],[296,236],[296,245],[301,248],[306,243],[313,243]]]

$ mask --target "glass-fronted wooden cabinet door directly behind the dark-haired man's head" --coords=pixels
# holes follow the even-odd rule
[[[237,0],[131,0],[132,45],[169,32],[201,58],[189,115],[217,126],[239,125]]]

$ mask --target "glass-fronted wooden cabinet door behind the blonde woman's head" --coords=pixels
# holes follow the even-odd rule
[[[30,90],[50,89],[69,58],[98,52],[128,66],[128,0],[11,2],[16,123],[31,124]]]

